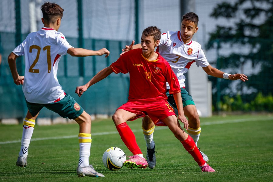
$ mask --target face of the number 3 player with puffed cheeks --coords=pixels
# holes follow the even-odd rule
[[[194,24],[194,22],[183,20],[181,23],[181,38],[183,42],[190,40],[194,33],[196,33],[198,27]]]

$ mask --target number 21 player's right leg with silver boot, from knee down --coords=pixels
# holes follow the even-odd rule
[[[74,119],[79,124],[79,164],[77,174],[79,176],[104,177],[89,165],[89,156],[91,148],[91,116],[83,111],[83,113]]]

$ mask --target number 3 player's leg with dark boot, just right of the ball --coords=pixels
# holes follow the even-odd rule
[[[156,151],[155,143],[153,141],[154,123],[149,116],[145,116],[142,119],[142,131],[147,146],[146,158],[148,167],[153,169],[156,165]]]

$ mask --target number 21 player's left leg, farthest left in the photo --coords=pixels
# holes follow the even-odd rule
[[[39,114],[39,113],[38,113]],[[24,122],[23,122],[23,133],[22,133],[22,140],[21,140],[21,149],[19,152],[19,157],[16,161],[16,165],[20,167],[27,166],[27,157],[28,157],[28,149],[31,140],[31,136],[35,126],[35,120],[38,116],[32,116],[28,110]]]

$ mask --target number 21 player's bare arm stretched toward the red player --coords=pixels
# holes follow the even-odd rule
[[[108,57],[110,52],[106,48],[102,48],[98,51],[93,51],[89,49],[83,49],[83,48],[74,48],[71,47],[67,50],[67,53],[71,56],[76,57],[85,57],[85,56],[102,56],[105,54],[105,57]]]

